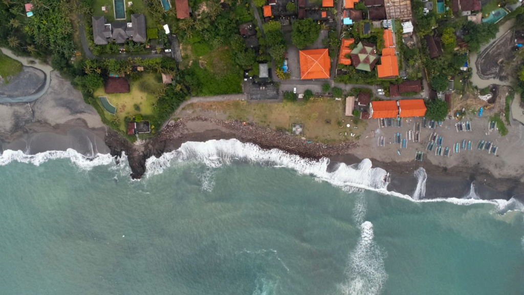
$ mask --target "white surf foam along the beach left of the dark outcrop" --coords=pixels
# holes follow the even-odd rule
[[[73,149],[68,149],[67,151],[47,151],[34,155],[28,155],[22,151],[6,150],[0,155],[0,166],[5,166],[13,161],[39,166],[42,163],[55,159],[69,159],[71,163],[77,165],[82,170],[91,170],[96,166],[114,163],[114,157],[110,154],[96,154],[95,156],[88,157]]]

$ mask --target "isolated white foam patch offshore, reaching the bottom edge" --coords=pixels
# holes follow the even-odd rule
[[[361,225],[361,237],[351,252],[346,267],[347,280],[339,285],[345,295],[379,294],[388,275],[384,267],[386,252],[373,241],[373,224]]]

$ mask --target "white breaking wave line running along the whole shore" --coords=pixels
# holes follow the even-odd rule
[[[121,174],[130,170],[127,165],[125,154],[121,157],[119,164],[115,165],[115,158],[110,154],[96,154],[89,157],[78,153],[73,149],[67,151],[47,151],[35,155],[24,154],[22,151],[6,150],[0,155],[0,166],[7,165],[12,161],[40,165],[49,160],[69,159],[82,170],[91,170],[100,165],[113,165],[112,169],[119,169]],[[497,213],[505,213],[508,210],[524,210],[524,205],[511,198],[509,201],[503,199],[482,200],[475,198],[435,198],[421,199],[425,193],[425,171],[417,170],[419,175],[417,189],[413,197],[391,192],[387,190],[384,183],[386,171],[381,168],[372,168],[372,162],[368,159],[353,165],[339,163],[328,170],[330,160],[322,158],[318,161],[303,159],[278,149],[264,150],[251,143],[242,143],[236,139],[210,140],[206,142],[185,142],[176,151],[164,153],[159,158],[150,157],[146,160],[145,177],[151,177],[162,173],[170,167],[173,162],[198,162],[208,167],[217,168],[236,161],[258,164],[268,167],[288,167],[299,174],[311,175],[320,181],[326,181],[334,186],[341,187],[344,191],[355,192],[367,189],[379,194],[392,195],[417,202],[450,202],[456,205],[471,205],[477,203],[493,204]],[[124,167],[125,166],[125,167]],[[129,172],[129,173],[128,173]],[[212,189],[212,173],[201,177],[203,189]],[[418,198],[418,199],[417,199]]]

